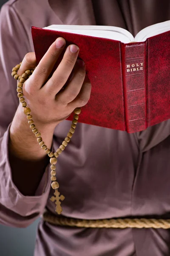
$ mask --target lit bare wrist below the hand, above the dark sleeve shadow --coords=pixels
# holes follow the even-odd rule
[[[35,122],[40,137],[47,148],[51,149],[54,134],[54,126],[41,125]],[[47,155],[37,141],[37,137],[32,132],[28,119],[23,113],[23,108],[18,106],[13,121],[10,126],[9,150],[12,154],[24,160],[38,160]]]

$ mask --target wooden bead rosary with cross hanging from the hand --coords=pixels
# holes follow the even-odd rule
[[[50,157],[50,163],[51,163],[51,187],[55,190],[54,196],[50,198],[52,202],[56,201],[55,204],[56,206],[56,212],[58,214],[61,214],[62,208],[60,206],[61,202],[59,200],[64,200],[65,197],[63,195],[59,196],[58,188],[59,188],[59,183],[56,181],[56,163],[57,163],[57,158],[59,157],[59,154],[62,153],[62,151],[65,150],[65,147],[68,145],[70,142],[71,137],[74,134],[76,125],[77,125],[77,120],[79,119],[79,114],[81,113],[80,108],[76,108],[74,110],[74,119],[71,124],[71,128],[67,134],[67,137],[65,137],[65,140],[63,140],[62,144],[57,148],[56,152],[52,152],[47,146],[45,145],[45,142],[42,140],[41,133],[37,130],[36,125],[34,124],[34,121],[32,119],[31,109],[27,107],[27,103],[23,97],[23,83],[31,76],[31,74],[34,72],[34,70],[26,70],[25,73],[22,74],[22,76],[19,76],[17,74],[17,71],[20,69],[20,64],[17,64],[15,67],[12,69],[11,75],[14,77],[14,79],[19,80],[17,83],[17,96],[19,98],[19,101],[23,107],[23,113],[27,116],[28,119],[28,124],[32,130],[32,132],[35,134],[35,137],[37,138],[37,142],[39,143],[40,147],[45,151],[46,154]]]

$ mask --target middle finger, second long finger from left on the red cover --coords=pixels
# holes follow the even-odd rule
[[[55,97],[61,90],[74,68],[78,54],[79,47],[76,45],[71,44],[67,47],[62,61],[44,86],[47,94]]]

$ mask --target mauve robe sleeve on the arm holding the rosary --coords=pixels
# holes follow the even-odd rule
[[[0,10],[0,223],[27,227],[42,214],[48,200],[50,164],[35,195],[22,195],[13,183],[8,158],[9,128],[19,104],[17,81],[11,76],[11,70],[30,52],[30,44],[20,15],[10,3]]]

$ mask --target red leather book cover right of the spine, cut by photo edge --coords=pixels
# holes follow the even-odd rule
[[[170,31],[148,38],[148,126],[170,119]]]

